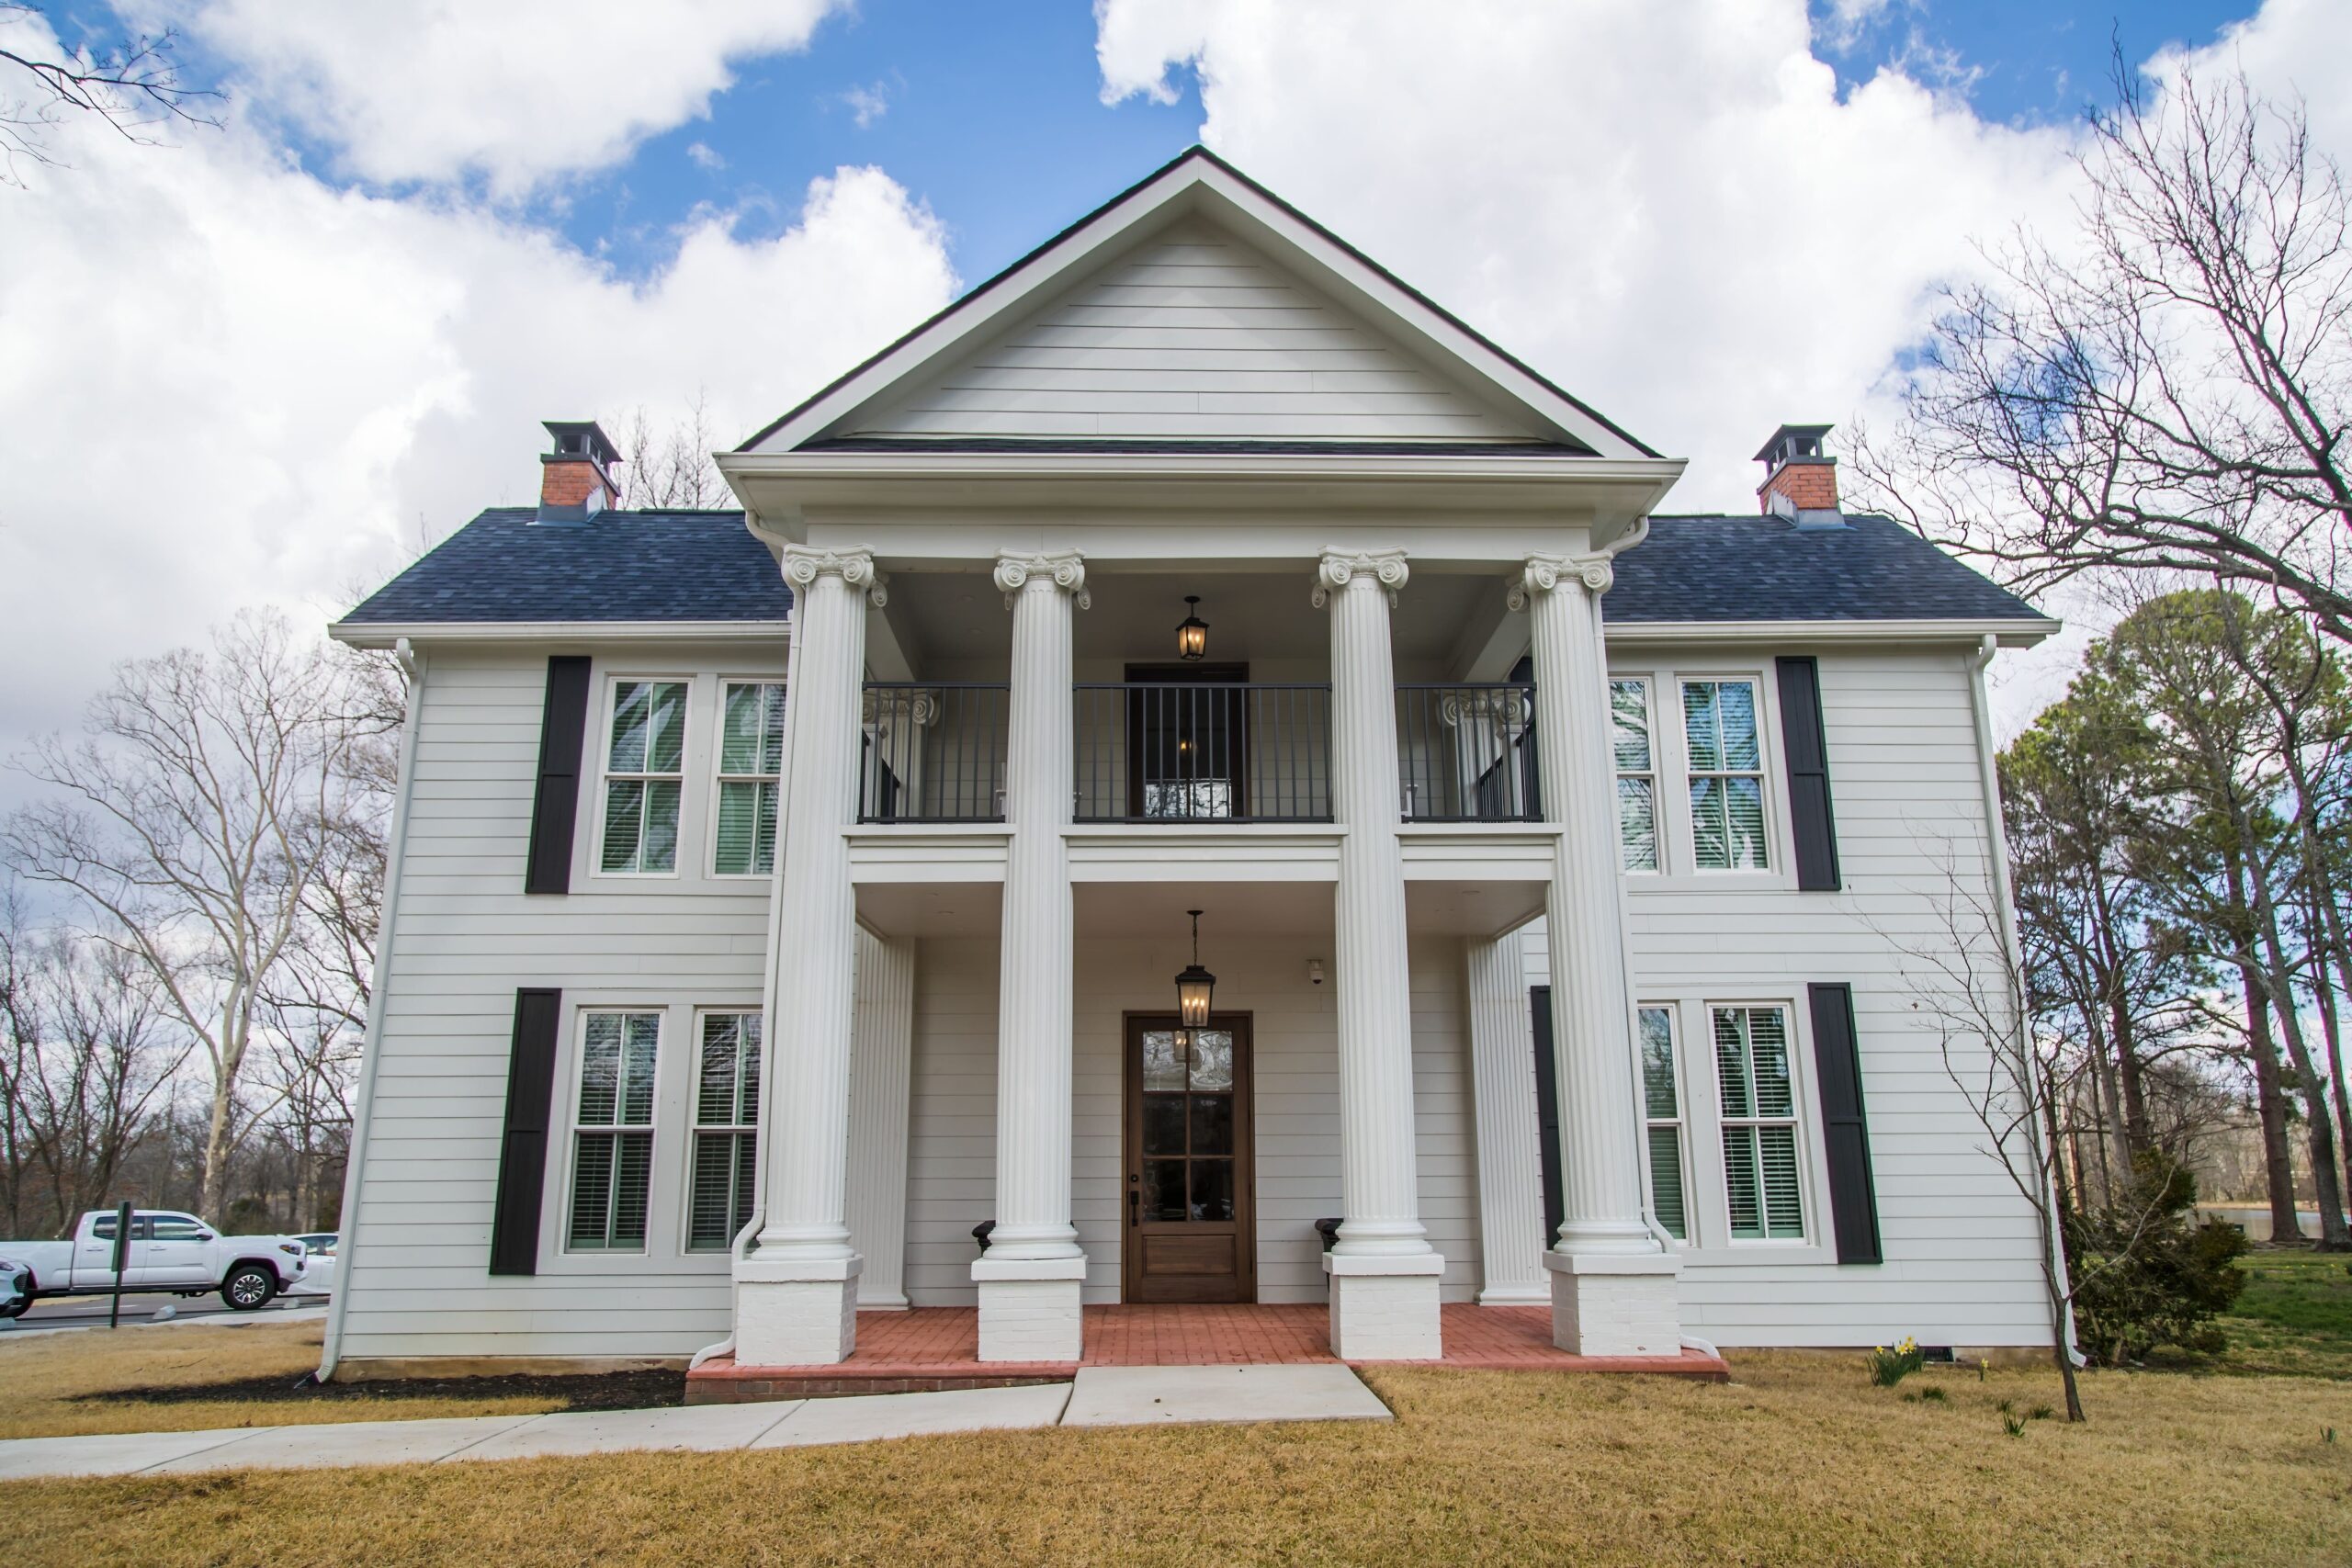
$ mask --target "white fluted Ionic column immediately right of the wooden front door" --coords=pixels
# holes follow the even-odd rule
[[[1331,611],[1331,806],[1338,818],[1341,1227],[1324,1253],[1331,1347],[1348,1359],[1439,1354],[1439,1258],[1421,1227],[1414,1159],[1414,997],[1397,846],[1397,670],[1388,611],[1404,552],[1329,552],[1315,604]]]

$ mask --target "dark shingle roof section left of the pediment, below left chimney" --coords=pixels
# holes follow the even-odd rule
[[[445,621],[783,621],[793,590],[743,512],[482,512],[367,597],[350,625]]]

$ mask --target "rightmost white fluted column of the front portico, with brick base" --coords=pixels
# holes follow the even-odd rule
[[[1559,1084],[1564,1218],[1552,1269],[1552,1338],[1578,1354],[1675,1354],[1675,1274],[1642,1220],[1632,997],[1602,644],[1606,555],[1529,555],[1510,607],[1531,616],[1543,816],[1559,823],[1545,933],[1552,947],[1552,1060]]]

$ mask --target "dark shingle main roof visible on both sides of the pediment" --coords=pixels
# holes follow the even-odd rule
[[[1639,621],[2034,621],[1891,517],[1795,529],[1778,517],[1653,517],[1602,599]],[[369,595],[348,625],[501,621],[783,621],[793,592],[743,512],[604,512],[539,524],[492,508]]]

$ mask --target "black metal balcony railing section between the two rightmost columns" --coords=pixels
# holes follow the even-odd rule
[[[1536,689],[1526,682],[1397,686],[1409,823],[1534,823]]]

